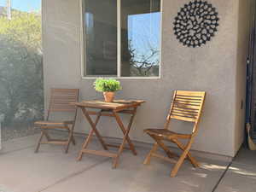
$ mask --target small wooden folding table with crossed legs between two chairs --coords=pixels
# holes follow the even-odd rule
[[[89,132],[88,137],[85,139],[83,143],[83,147],[79,152],[78,160],[82,159],[83,154],[96,154],[101,156],[107,156],[113,158],[113,168],[116,168],[118,166],[119,162],[119,156],[123,152],[123,149],[125,148],[125,142],[129,144],[129,148],[134,155],[137,155],[136,149],[131,143],[131,139],[129,137],[129,132],[131,130],[131,125],[134,119],[134,116],[137,112],[137,107],[139,107],[144,101],[141,100],[132,100],[132,101],[125,101],[125,100],[115,100],[113,102],[102,102],[102,101],[89,101],[89,102],[73,102],[72,104],[76,105],[78,108],[81,108],[84,118],[88,120],[91,130]],[[95,110],[91,110],[91,109]],[[90,110],[88,110],[90,109]],[[127,127],[123,124],[121,118],[119,117],[119,113],[126,113],[131,115],[131,119],[129,121],[129,124]],[[90,115],[96,115],[96,120],[93,121],[90,117]],[[108,144],[105,143],[102,139],[102,136],[100,135],[99,131],[96,129],[96,125],[99,122],[100,118],[102,116],[108,116],[113,117],[116,119],[120,130],[123,132],[124,137],[122,140],[122,143],[118,145]],[[90,150],[87,149],[90,139],[93,136],[93,134],[96,134],[96,137],[99,139],[100,143],[102,144],[102,147],[105,149],[105,151],[99,151],[99,150]],[[113,148],[119,148],[118,153],[108,152],[108,147]]]

